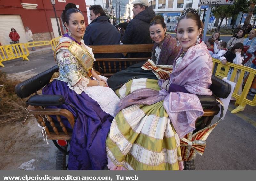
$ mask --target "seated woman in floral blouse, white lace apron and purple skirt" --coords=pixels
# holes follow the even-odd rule
[[[68,3],[62,13],[68,33],[60,38],[54,51],[59,77],[43,88],[42,94],[62,95],[78,111],[68,159],[69,170],[102,170],[106,165],[105,142],[119,98],[97,75],[92,48],[81,39],[85,32],[84,17],[75,4]],[[51,107],[56,108],[56,107]],[[75,111],[66,105],[58,108]],[[71,129],[67,120],[65,126]]]

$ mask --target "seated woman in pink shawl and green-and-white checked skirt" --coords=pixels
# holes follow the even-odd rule
[[[121,100],[106,140],[110,170],[183,170],[180,138],[204,113],[196,94],[212,95],[212,59],[201,33],[198,13],[186,10],[170,79],[134,79],[116,91]]]

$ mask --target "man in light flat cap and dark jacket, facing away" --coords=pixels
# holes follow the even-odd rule
[[[135,0],[133,4],[133,19],[127,25],[121,38],[123,44],[152,43],[149,34],[150,21],[155,12],[149,8],[148,0]],[[150,53],[129,53],[129,57],[151,57]]]

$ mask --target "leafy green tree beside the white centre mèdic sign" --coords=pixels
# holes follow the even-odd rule
[[[248,6],[249,1],[246,0],[235,0],[233,5],[212,6],[212,12],[214,15],[221,19],[218,30],[220,29],[220,25],[225,18],[232,17],[232,19],[236,19],[240,12],[246,13],[248,11]]]

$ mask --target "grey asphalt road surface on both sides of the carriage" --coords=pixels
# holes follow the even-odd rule
[[[5,67],[0,70],[8,74],[40,73],[56,65],[52,52],[28,58],[29,61],[16,59],[4,62]],[[247,105],[244,111],[232,114],[230,111],[234,108],[234,101],[231,101],[225,119],[206,140],[204,154],[196,156],[196,170],[256,170],[255,107]],[[49,153],[56,149],[52,142],[50,144]],[[47,154],[44,155],[47,157]],[[52,165],[37,166],[37,169],[48,170],[54,166],[55,162],[52,162]]]

